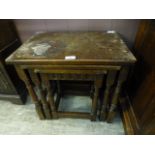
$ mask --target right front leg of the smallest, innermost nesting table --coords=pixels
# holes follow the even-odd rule
[[[97,117],[97,104],[98,104],[98,96],[99,96],[99,89],[102,85],[102,79],[96,80],[94,82],[94,95],[92,100],[92,109],[91,109],[91,121],[96,121]]]

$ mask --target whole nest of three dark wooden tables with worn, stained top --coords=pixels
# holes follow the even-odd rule
[[[106,32],[50,32],[28,39],[6,62],[13,64],[35,103],[40,119],[79,117],[96,120],[100,88],[100,120],[112,122],[122,83],[136,61],[120,35]],[[61,80],[92,81],[90,113],[58,110]],[[36,87],[34,89],[34,85]],[[54,83],[57,98],[54,100]]]

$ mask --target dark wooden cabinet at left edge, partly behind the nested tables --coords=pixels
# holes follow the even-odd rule
[[[20,45],[13,22],[0,20],[0,99],[15,104],[24,104],[27,93],[14,67],[6,65],[5,58]]]

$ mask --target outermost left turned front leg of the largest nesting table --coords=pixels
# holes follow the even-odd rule
[[[27,89],[28,89],[28,92],[31,96],[31,99],[32,101],[34,102],[35,104],[35,108],[36,108],[36,111],[37,111],[37,114],[39,116],[40,119],[45,119],[45,116],[44,116],[44,112],[43,112],[43,109],[42,109],[42,105],[40,103],[40,101],[38,100],[38,97],[30,83],[30,80],[29,78],[27,77],[25,71],[19,67],[16,67],[16,71],[20,77],[21,80],[23,80],[23,82],[25,83]]]

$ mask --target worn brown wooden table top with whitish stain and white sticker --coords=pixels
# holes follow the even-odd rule
[[[115,31],[36,34],[6,60],[13,64],[132,64],[135,61]]]

